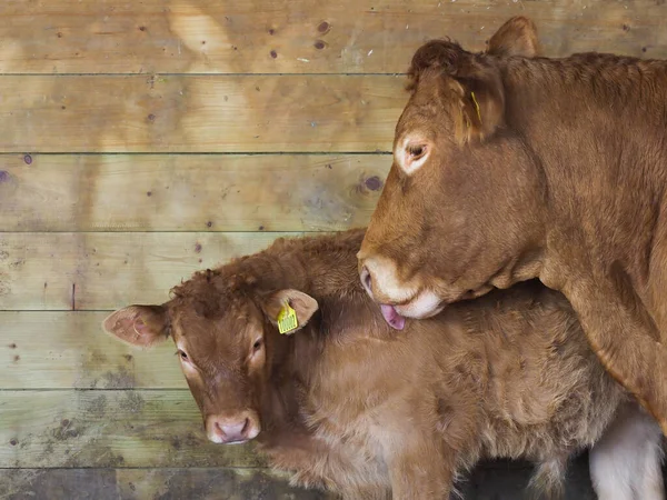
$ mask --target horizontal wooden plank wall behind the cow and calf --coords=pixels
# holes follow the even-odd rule
[[[415,49],[518,13],[549,56],[667,57],[664,0],[0,2],[0,498],[320,498],[207,443],[172,350],[100,321],[366,223]]]

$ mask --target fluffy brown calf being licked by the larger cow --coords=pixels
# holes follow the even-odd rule
[[[536,486],[557,490],[568,456],[594,444],[600,498],[665,499],[658,426],[627,403],[560,293],[534,281],[396,334],[358,280],[362,238],[280,240],[104,328],[142,347],[171,336],[209,439],[255,438],[298,484],[446,500],[480,458],[524,457]],[[296,328],[280,334],[286,303]]]

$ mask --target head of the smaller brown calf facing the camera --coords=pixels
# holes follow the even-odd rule
[[[140,348],[171,337],[208,439],[242,443],[256,438],[271,367],[287,342],[277,330],[278,313],[286,303],[296,311],[298,328],[292,333],[307,324],[317,301],[297,290],[221,290],[201,273],[176,288],[175,296],[162,306],[120,309],[102,327]]]

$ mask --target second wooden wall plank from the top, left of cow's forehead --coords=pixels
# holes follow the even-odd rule
[[[0,77],[0,152],[389,151],[402,77]]]

